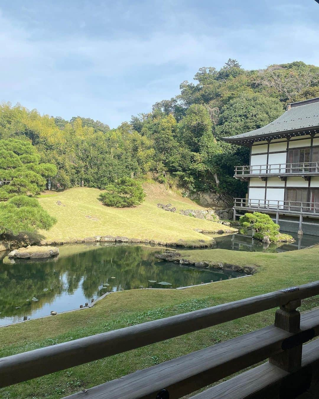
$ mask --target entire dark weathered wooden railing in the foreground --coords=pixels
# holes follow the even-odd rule
[[[319,339],[303,344],[319,335],[319,310],[302,315],[296,310],[302,299],[317,294],[319,281],[8,356],[0,359],[0,387],[280,307],[274,325],[68,398],[177,399],[268,358],[267,363],[193,397],[292,398],[318,375]]]

